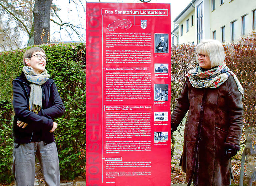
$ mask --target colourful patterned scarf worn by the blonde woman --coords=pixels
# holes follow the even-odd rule
[[[199,64],[197,64],[194,69],[189,70],[186,74],[189,82],[195,88],[217,88],[223,84],[230,75],[234,77],[238,90],[243,95],[244,89],[242,85],[236,75],[226,66],[225,62],[207,71],[203,71],[201,67],[199,67]]]

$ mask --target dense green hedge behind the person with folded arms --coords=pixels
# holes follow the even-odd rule
[[[65,114],[55,120],[58,123],[55,140],[61,178],[73,179],[85,171],[85,44],[37,47],[43,48],[49,58],[47,72],[55,80],[65,105]],[[27,49],[0,53],[0,183],[13,179],[12,80],[22,72]]]

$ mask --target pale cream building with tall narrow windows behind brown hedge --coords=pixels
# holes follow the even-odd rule
[[[256,0],[192,0],[174,19],[177,43],[233,42],[256,29]],[[172,43],[172,44],[175,44]]]

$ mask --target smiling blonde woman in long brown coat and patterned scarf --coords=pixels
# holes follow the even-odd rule
[[[194,186],[229,186],[231,157],[240,149],[244,90],[226,66],[219,41],[202,40],[196,57],[172,112],[171,131],[188,112],[180,161],[188,186],[192,180]]]

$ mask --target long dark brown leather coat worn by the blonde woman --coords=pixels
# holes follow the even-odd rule
[[[239,150],[242,96],[233,76],[218,88],[194,88],[186,79],[171,115],[177,129],[188,111],[181,158],[186,181],[194,186],[229,186],[231,161],[225,148]]]

